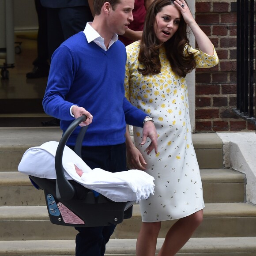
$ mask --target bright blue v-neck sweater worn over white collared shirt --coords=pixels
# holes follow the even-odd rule
[[[142,127],[143,111],[124,97],[126,50],[118,40],[107,51],[87,42],[79,32],[64,41],[53,54],[43,107],[60,119],[66,131],[74,120],[70,107],[84,107],[93,115],[83,146],[117,145],[125,142],[126,123]],[[67,145],[74,145],[76,128]]]

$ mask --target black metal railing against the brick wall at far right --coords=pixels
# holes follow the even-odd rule
[[[239,117],[256,125],[255,0],[237,0],[237,108]]]

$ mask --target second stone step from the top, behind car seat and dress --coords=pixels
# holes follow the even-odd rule
[[[244,202],[245,175],[230,169],[202,169],[205,203]],[[0,206],[45,205],[44,192],[17,171],[0,172]]]

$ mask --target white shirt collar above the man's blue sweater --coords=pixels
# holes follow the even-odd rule
[[[85,26],[85,29],[83,30],[83,33],[85,34],[88,43],[94,41],[97,45],[99,45],[102,49],[105,51],[107,50],[104,45],[104,38],[101,37],[101,35],[91,26],[92,22],[88,22]],[[114,34],[109,42],[109,47],[113,45],[114,42],[118,40],[118,35]]]

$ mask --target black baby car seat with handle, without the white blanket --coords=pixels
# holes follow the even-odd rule
[[[55,156],[56,180],[29,175],[30,181],[36,188],[44,190],[49,218],[53,224],[81,227],[119,224],[132,217],[134,202],[117,203],[101,194],[94,196],[93,191],[73,180],[67,180],[64,175],[64,147],[75,128],[85,120],[85,116],[75,119],[60,139]],[[87,127],[81,128],[75,143],[74,151],[80,157]]]

